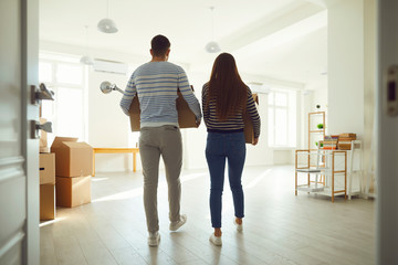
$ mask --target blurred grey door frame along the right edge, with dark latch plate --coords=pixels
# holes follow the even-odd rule
[[[398,65],[398,2],[378,0],[376,264],[398,264],[398,116],[387,115],[387,71]],[[396,88],[397,89],[397,88]]]

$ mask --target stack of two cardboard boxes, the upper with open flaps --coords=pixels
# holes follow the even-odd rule
[[[73,208],[91,202],[93,148],[77,138],[55,137],[56,205]]]

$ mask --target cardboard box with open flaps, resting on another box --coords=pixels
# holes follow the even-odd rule
[[[93,148],[77,138],[55,137],[51,152],[55,153],[55,176],[81,177],[93,172]]]

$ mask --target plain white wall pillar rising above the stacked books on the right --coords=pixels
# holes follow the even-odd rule
[[[364,2],[328,9],[328,134],[364,132]]]

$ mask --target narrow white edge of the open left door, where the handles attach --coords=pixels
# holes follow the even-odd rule
[[[21,0],[21,146],[25,160],[27,221],[23,264],[40,264],[39,140],[31,139],[29,120],[39,120],[39,106],[31,104],[30,86],[39,86],[39,0]]]

